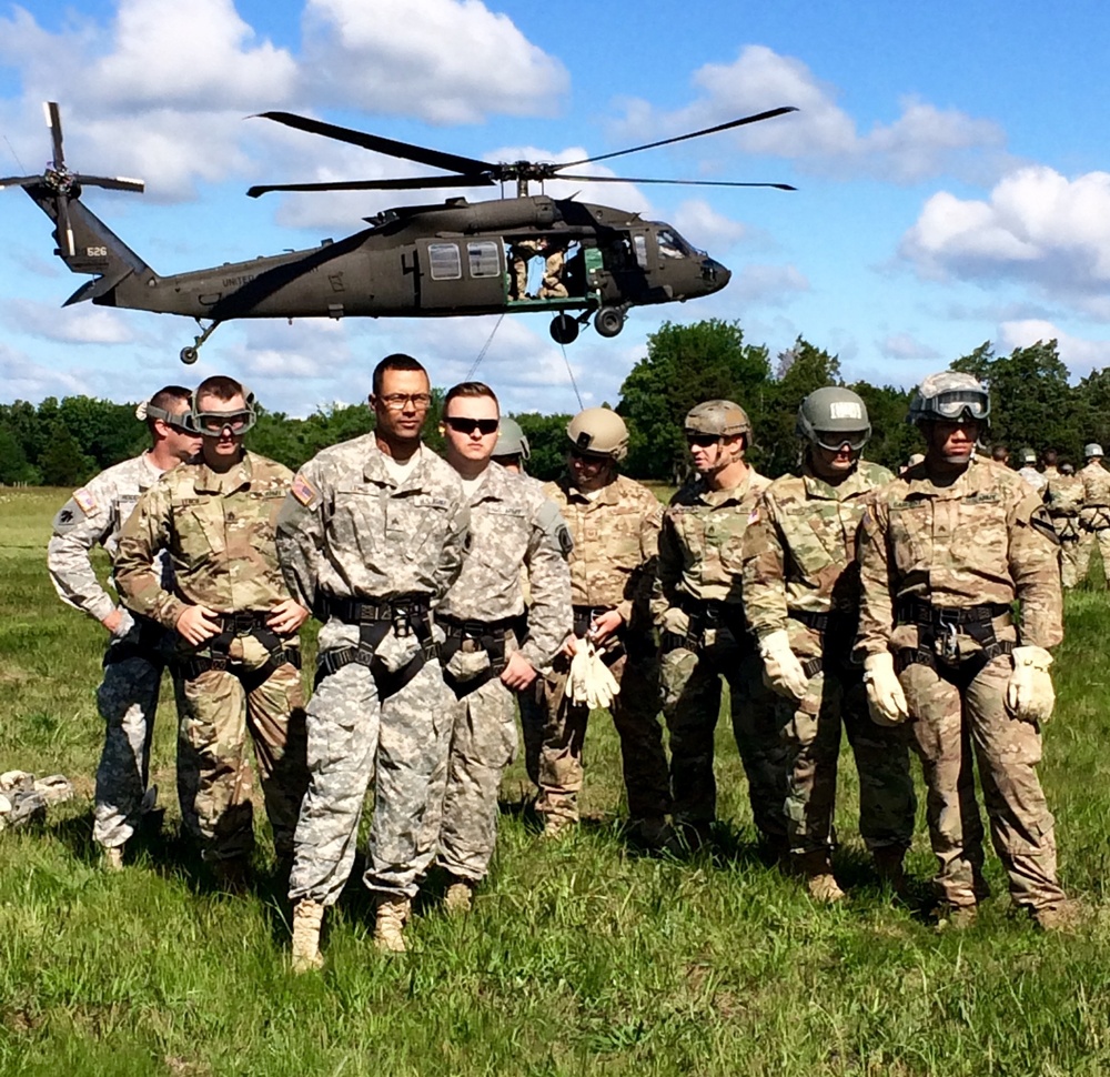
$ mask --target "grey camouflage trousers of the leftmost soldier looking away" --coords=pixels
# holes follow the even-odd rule
[[[137,618],[104,654],[104,676],[97,688],[104,747],[97,767],[92,836],[105,848],[130,841],[144,809],[154,715],[172,638],[160,625]]]

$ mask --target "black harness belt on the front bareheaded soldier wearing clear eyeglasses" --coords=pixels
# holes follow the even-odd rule
[[[424,668],[424,663],[438,653],[432,637],[427,595],[398,595],[396,598],[367,602],[329,596],[323,600],[323,610],[329,617],[355,625],[359,628],[359,643],[353,647],[340,647],[317,656],[317,685],[336,670],[356,662],[370,670],[380,698],[387,699],[408,684]],[[415,636],[420,644],[416,654],[400,670],[386,670],[376,653],[390,628],[393,628],[398,638]]]

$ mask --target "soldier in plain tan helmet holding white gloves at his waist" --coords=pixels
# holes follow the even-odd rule
[[[578,822],[582,752],[589,707],[572,698],[572,658],[594,648],[619,686],[608,707],[620,737],[630,836],[648,845],[666,836],[667,759],[659,724],[659,665],[652,638],[650,592],[662,509],[655,495],[617,473],[628,447],[624,420],[587,407],[567,424],[567,472],[544,487],[574,540],[571,595],[574,635],[544,677],[536,811],[558,837]]]

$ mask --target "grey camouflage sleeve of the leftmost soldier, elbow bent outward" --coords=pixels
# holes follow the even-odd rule
[[[97,578],[90,552],[111,534],[114,510],[111,491],[93,480],[58,511],[47,544],[47,571],[58,596],[97,621],[112,613],[115,600]]]

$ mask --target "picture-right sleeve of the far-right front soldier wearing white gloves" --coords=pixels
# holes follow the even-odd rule
[[[1063,638],[1063,596],[1052,521],[1032,493],[1020,499],[1008,523],[1010,577],[1021,603],[1021,642],[1053,647]]]

